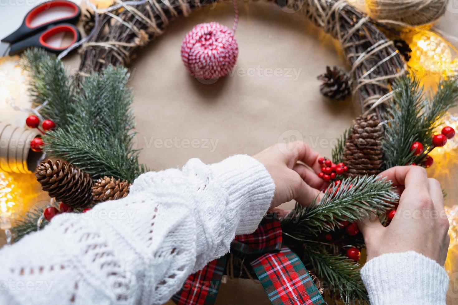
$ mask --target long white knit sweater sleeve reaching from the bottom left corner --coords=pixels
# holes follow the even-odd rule
[[[274,189],[247,155],[145,173],[127,197],[3,247],[0,304],[163,304],[235,234],[256,230]]]

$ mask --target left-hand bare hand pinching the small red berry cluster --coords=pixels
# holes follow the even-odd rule
[[[293,199],[303,205],[310,204],[320,195],[319,190],[327,187],[317,176],[321,171],[320,155],[303,142],[276,144],[253,157],[266,167],[275,182],[272,209]],[[276,212],[282,216],[281,211]]]

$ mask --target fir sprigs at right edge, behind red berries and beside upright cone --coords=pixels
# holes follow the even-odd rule
[[[434,146],[434,128],[440,118],[458,100],[458,77],[441,80],[437,92],[428,98],[420,81],[412,77],[398,78],[393,84],[393,99],[384,113],[386,120],[383,152],[384,168],[421,164]],[[413,155],[410,146],[418,141],[424,152]]]

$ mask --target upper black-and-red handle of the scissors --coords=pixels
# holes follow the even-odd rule
[[[73,10],[71,16],[64,16],[62,18],[56,18],[54,20],[42,23],[38,26],[32,27],[31,22],[33,18],[35,18],[39,13],[49,10],[52,7],[69,7]],[[21,26],[9,36],[3,38],[1,41],[5,43],[16,43],[22,39],[27,39],[27,37],[32,36],[46,28],[50,25],[62,22],[69,22],[69,23],[76,23],[80,19],[81,10],[78,5],[71,1],[67,0],[51,0],[48,2],[44,2],[36,7],[34,7],[31,11],[27,13],[22,21]]]

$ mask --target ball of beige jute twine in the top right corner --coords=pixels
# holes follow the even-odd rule
[[[448,0],[366,0],[377,20],[395,20],[412,26],[432,23],[444,15]]]

